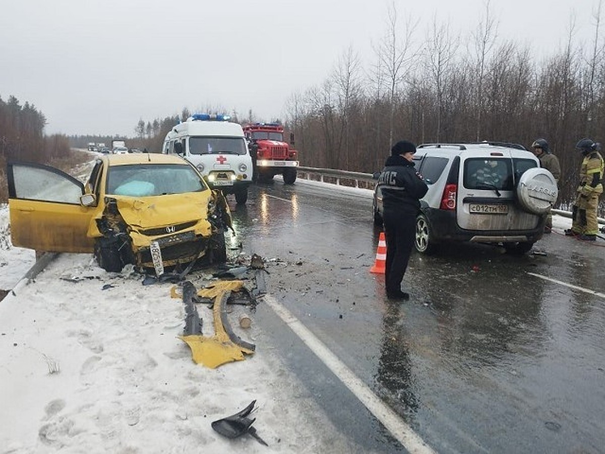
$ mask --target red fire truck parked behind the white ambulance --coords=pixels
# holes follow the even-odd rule
[[[280,123],[250,123],[243,127],[252,156],[253,179],[267,182],[281,174],[284,184],[292,185],[296,180],[298,160],[294,145],[294,134],[290,144],[284,141],[284,127]]]

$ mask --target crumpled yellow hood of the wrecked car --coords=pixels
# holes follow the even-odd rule
[[[122,219],[134,228],[175,225],[208,219],[211,191],[152,197],[114,197]]]

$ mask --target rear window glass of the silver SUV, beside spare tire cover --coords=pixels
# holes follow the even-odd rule
[[[464,187],[512,191],[518,178],[532,167],[537,167],[532,159],[469,158],[464,162]]]

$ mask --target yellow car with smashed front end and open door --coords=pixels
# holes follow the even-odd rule
[[[132,263],[157,275],[198,259],[226,261],[226,200],[181,157],[102,156],[85,184],[33,163],[8,163],[7,176],[15,246],[92,252],[106,271]]]

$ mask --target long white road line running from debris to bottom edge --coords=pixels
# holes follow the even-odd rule
[[[281,320],[309,347],[313,353],[338,377],[342,383],[361,401],[370,412],[387,428],[389,432],[411,453],[432,454],[420,436],[404,423],[371,389],[352,372],[328,347],[275,298],[265,295],[263,298]]]

